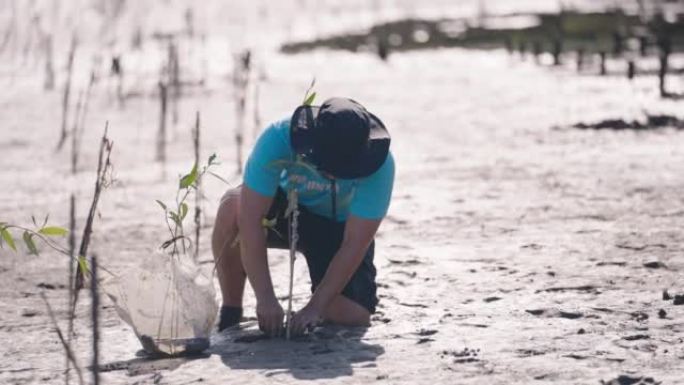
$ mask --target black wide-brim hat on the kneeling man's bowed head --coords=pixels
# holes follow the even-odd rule
[[[300,106],[292,114],[290,142],[295,153],[340,179],[363,178],[387,159],[389,132],[361,104],[347,98],[320,106]]]

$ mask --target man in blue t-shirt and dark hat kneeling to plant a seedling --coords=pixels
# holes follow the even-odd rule
[[[313,293],[292,317],[291,331],[302,334],[322,320],[370,323],[377,304],[374,236],[394,183],[389,146],[380,119],[345,98],[300,106],[291,119],[266,128],[247,160],[244,184],[226,193],[216,217],[212,249],[223,297],[219,331],[239,323],[249,278],[260,329],[271,336],[283,332],[284,312],[266,251],[289,248],[290,189],[298,195],[297,246]]]

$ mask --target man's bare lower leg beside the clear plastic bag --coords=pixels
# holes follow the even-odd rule
[[[242,297],[247,275],[240,259],[240,246],[235,242],[238,236],[239,207],[238,187],[229,190],[221,198],[211,237],[211,248],[223,299],[219,331],[238,324],[242,317]]]

